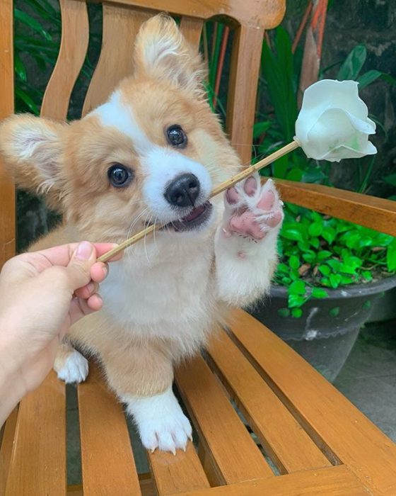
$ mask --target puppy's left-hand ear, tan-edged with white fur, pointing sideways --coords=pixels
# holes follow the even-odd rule
[[[28,114],[12,115],[0,124],[0,155],[6,173],[13,175],[19,187],[45,194],[54,207],[59,207],[62,194],[60,158],[66,128]]]

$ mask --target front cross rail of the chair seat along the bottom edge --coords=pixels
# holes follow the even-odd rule
[[[308,470],[264,480],[214,487],[177,496],[368,496],[369,492],[345,466]],[[378,494],[378,493],[375,493]]]

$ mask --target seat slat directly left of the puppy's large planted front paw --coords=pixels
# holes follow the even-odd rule
[[[78,385],[78,414],[84,496],[141,495],[122,406],[92,362]]]

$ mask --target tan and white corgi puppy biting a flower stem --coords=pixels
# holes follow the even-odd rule
[[[164,227],[127,249],[101,285],[103,309],[71,327],[54,370],[66,383],[98,356],[147,449],[185,449],[192,429],[172,390],[173,365],[205,345],[231,305],[266,293],[283,219],[271,180],[258,174],[209,200],[240,169],[211,112],[202,61],[175,22],[141,26],[134,74],[81,120],[14,115],[0,153],[16,183],[61,210],[61,227],[32,250],[88,239],[122,242]]]

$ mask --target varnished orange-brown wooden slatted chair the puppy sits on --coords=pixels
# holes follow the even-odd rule
[[[61,7],[62,44],[42,102],[42,115],[57,119],[66,118],[88,46],[86,2],[61,0]],[[182,15],[181,28],[195,46],[205,19],[221,14],[232,20],[227,130],[231,140],[250,143],[262,35],[281,21],[283,0],[107,0],[103,49],[83,113],[131,71],[136,31],[163,10]],[[0,0],[0,68],[4,118],[13,111],[11,0]],[[250,147],[235,147],[248,162]],[[0,184],[0,263],[15,245],[14,189],[6,181]],[[312,184],[278,184],[286,201],[396,235],[395,203]],[[86,383],[78,385],[83,487],[67,488],[65,386],[50,373],[6,423],[0,494],[395,496],[395,444],[269,329],[241,310],[233,317],[205,357],[176,372],[197,429],[197,451],[190,443],[177,456],[148,453],[150,478],[138,476],[122,407],[91,366]]]

